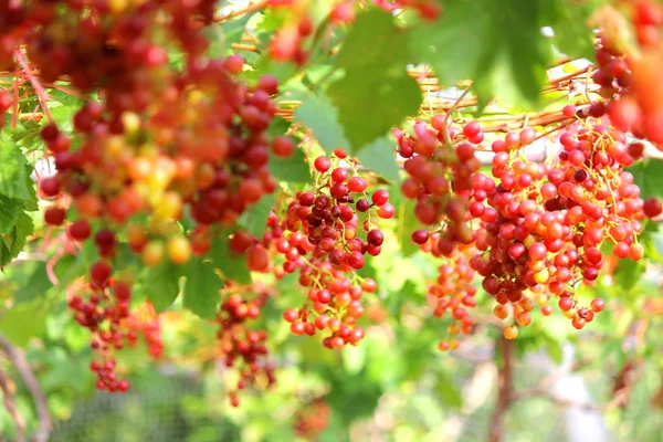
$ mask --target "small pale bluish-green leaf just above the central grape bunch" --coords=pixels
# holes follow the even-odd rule
[[[328,155],[339,147],[346,151],[350,150],[343,126],[338,123],[337,110],[324,94],[314,95],[299,86],[291,87],[288,95],[302,101],[302,105],[295,110],[295,120],[313,130],[313,135]]]

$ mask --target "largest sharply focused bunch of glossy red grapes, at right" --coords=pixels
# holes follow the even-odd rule
[[[588,120],[564,131],[556,166],[519,157],[515,149],[520,143],[509,143],[511,134],[493,144],[493,176],[498,181],[487,192],[477,231],[475,244],[484,253],[471,265],[499,305],[520,305],[518,325],[530,322],[532,298],[525,291],[545,286],[559,297],[573,327],[582,328],[602,309],[602,302],[594,299],[591,309],[581,307],[573,287],[597,280],[603,263],[601,245],[612,243],[619,259],[643,255],[636,241],[643,200],[633,177],[623,170],[633,159],[624,134],[604,123]],[[504,307],[495,309],[499,318],[507,314]],[[515,326],[505,329],[507,338],[516,334]]]

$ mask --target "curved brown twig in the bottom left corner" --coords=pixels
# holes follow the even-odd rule
[[[25,387],[30,390],[36,409],[36,417],[39,427],[34,432],[32,441],[34,442],[46,442],[51,434],[52,421],[49,412],[49,406],[46,404],[46,398],[42,391],[25,356],[21,350],[15,348],[9,340],[3,336],[0,336],[0,349],[7,355],[11,364],[15,367],[17,371],[23,379]]]

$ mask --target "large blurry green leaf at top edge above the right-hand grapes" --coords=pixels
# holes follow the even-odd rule
[[[496,97],[507,106],[534,107],[552,52],[541,34],[538,1],[445,1],[434,23],[413,31],[411,48],[440,82],[473,80],[480,103]]]

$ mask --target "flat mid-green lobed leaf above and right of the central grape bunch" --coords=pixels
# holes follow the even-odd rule
[[[393,15],[372,10],[357,18],[345,39],[337,61],[345,76],[327,94],[354,151],[419,110],[422,94],[406,70],[409,36]]]

